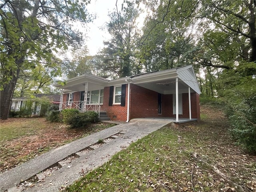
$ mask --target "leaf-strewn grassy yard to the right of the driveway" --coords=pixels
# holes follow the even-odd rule
[[[218,108],[202,121],[164,127],[69,186],[69,192],[256,191],[256,156],[234,145]]]

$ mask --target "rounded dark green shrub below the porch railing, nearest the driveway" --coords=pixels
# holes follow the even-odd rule
[[[98,121],[98,113],[94,111],[86,111],[83,113],[74,114],[71,118],[68,118],[67,124],[70,124],[70,128],[86,127],[90,123]]]

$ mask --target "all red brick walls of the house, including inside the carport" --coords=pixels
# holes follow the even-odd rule
[[[128,84],[126,85],[125,106],[113,104],[108,106],[109,89],[104,88],[104,99],[100,111],[107,112],[111,120],[126,121],[127,120],[127,102],[128,102]],[[158,93],[138,85],[130,84],[130,119],[143,117],[176,117],[173,114],[173,95],[162,94],[162,114],[158,114]],[[63,94],[63,102],[66,102],[67,94]],[[80,100],[80,92],[74,92],[74,101]],[[72,106],[73,108],[74,106]],[[188,93],[182,94],[182,115],[180,118],[189,118],[188,110]],[[199,94],[191,93],[191,114],[192,118],[200,120],[200,104]],[[113,118],[116,116],[116,118]]]

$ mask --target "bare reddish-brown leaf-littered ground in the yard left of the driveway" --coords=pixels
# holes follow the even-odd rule
[[[9,118],[8,120],[1,120],[1,126],[4,124],[18,124],[24,120],[27,119]],[[38,118],[37,120],[36,123],[39,126],[41,124],[42,128],[34,130],[35,133],[33,135],[1,142],[1,172],[53,148],[108,127],[108,124],[99,123],[92,124],[86,129],[69,129],[68,126],[62,123],[50,123],[44,118]]]

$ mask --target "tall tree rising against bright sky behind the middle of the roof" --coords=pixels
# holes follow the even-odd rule
[[[109,15],[110,22],[106,24],[106,29],[111,39],[104,42],[106,47],[101,52],[104,76],[125,77],[140,70],[139,66],[134,65],[135,45],[139,35],[136,20],[139,14],[136,5],[128,3],[121,11]]]

